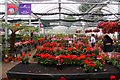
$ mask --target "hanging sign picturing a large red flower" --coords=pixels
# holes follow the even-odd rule
[[[19,8],[16,4],[7,4],[7,14],[8,15],[18,15]]]

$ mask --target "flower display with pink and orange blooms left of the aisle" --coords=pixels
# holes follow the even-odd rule
[[[3,50],[3,54],[2,54],[2,60],[4,62],[10,62],[10,61],[16,61],[17,60],[17,55],[18,54],[22,54],[24,52],[29,52],[30,50],[32,50],[32,48],[34,48],[34,40],[27,40],[27,41],[23,41],[23,42],[16,42],[15,43],[15,50],[14,53],[10,53],[10,48],[8,48],[7,50]]]

